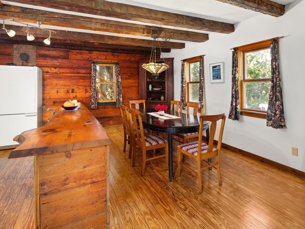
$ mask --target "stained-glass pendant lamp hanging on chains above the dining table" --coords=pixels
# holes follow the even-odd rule
[[[142,64],[142,67],[145,68],[147,71],[151,72],[154,79],[158,79],[158,78],[160,79],[159,73],[163,72],[164,70],[169,68],[169,66],[167,64],[165,64],[163,54],[161,51],[161,47],[160,47],[160,42],[159,42],[159,38],[161,38],[161,37],[158,35],[156,29],[154,31],[154,34],[151,36],[151,38],[153,39],[153,42],[152,42],[152,52],[150,54],[149,63]],[[169,38],[167,38],[167,39],[161,38],[161,39],[164,41],[169,41]],[[156,63],[156,41],[158,41],[163,63]]]

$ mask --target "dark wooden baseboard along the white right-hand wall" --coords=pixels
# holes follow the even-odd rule
[[[203,136],[203,140],[206,140],[206,136]],[[218,141],[217,141],[217,140],[214,140],[214,144],[217,145],[217,143],[218,143]],[[258,155],[256,155],[256,154],[250,153],[250,152],[245,151],[245,150],[241,150],[241,149],[239,149],[239,148],[236,148],[236,147],[234,147],[234,146],[230,146],[230,145],[225,144],[225,143],[222,143],[222,144],[221,144],[221,147],[224,148],[224,149],[231,150],[231,151],[233,151],[233,152],[235,152],[235,153],[242,154],[242,155],[244,155],[244,156],[246,156],[246,157],[248,157],[248,158],[252,158],[253,160],[256,160],[256,161],[259,161],[259,162],[263,162],[263,163],[265,163],[265,164],[267,164],[267,165],[270,165],[270,166],[272,166],[272,167],[275,167],[275,168],[277,168],[277,169],[280,169],[280,170],[282,170],[282,171],[285,171],[285,172],[287,172],[287,173],[290,173],[290,174],[292,174],[292,175],[294,175],[294,176],[297,176],[297,177],[300,177],[300,178],[302,178],[302,179],[305,179],[305,172],[300,171],[300,170],[298,170],[298,169],[294,169],[294,168],[291,168],[291,167],[289,167],[289,166],[287,166],[287,165],[283,165],[283,164],[281,164],[281,163],[271,161],[271,160],[269,160],[269,159],[267,159],[267,158],[263,158],[263,157],[258,156]]]

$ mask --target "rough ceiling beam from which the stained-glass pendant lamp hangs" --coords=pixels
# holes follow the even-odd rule
[[[150,37],[153,34],[154,29],[156,28],[158,34],[163,38],[168,38],[169,36],[171,36],[171,39],[174,40],[192,42],[205,42],[209,39],[209,35],[206,33],[183,31],[178,29],[168,29],[162,27],[120,22],[115,20],[106,20],[101,18],[84,17],[72,14],[56,13],[14,5],[3,5],[3,8],[0,8],[0,18],[14,18],[16,20],[22,20],[23,22],[27,23],[41,22],[42,24],[46,25],[130,34],[146,37]]]

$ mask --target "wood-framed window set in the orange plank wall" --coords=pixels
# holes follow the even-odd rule
[[[110,105],[116,101],[114,64],[97,64],[96,90],[99,105]]]

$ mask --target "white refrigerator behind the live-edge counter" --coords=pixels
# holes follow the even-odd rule
[[[0,65],[0,149],[14,147],[16,135],[41,125],[41,69]]]

